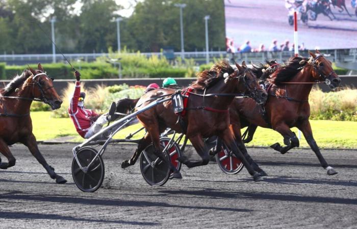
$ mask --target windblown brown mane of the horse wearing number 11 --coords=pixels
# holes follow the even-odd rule
[[[194,89],[210,88],[223,78],[224,73],[232,74],[234,69],[227,61],[214,64],[210,70],[205,70],[197,75],[197,80],[191,84]]]

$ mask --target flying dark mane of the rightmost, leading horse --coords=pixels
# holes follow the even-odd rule
[[[304,63],[300,64],[301,61],[304,61]],[[289,61],[285,63],[285,66],[279,68],[273,73],[273,83],[278,85],[282,82],[290,81],[301,70],[301,67],[308,63],[308,61],[309,58],[303,58],[302,56],[290,58]]]

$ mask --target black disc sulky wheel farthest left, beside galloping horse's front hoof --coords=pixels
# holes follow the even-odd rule
[[[90,147],[85,147],[77,152],[77,158],[82,167],[87,167],[98,152]],[[72,177],[75,185],[84,192],[95,192],[104,180],[104,162],[101,156],[93,161],[85,173],[78,165],[75,158],[72,161]]]

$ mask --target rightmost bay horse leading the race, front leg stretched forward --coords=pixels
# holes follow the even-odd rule
[[[327,170],[327,175],[335,175],[337,171],[327,164],[313,137],[309,122],[309,94],[316,82],[324,82],[334,89],[339,86],[341,79],[331,67],[331,62],[318,50],[316,53],[309,53],[311,58],[291,58],[286,66],[278,68],[271,75],[268,80],[272,84],[268,88],[269,97],[264,106],[257,105],[251,99],[235,99],[230,106],[231,129],[234,131],[237,145],[243,149],[241,128],[249,125],[271,128],[284,137],[284,144],[287,145],[281,147],[279,143],[275,143],[271,148],[285,154],[299,146],[299,139],[290,130],[297,127],[315,152],[321,166]],[[266,111],[266,117],[262,115],[262,110]],[[217,142],[212,154],[219,152],[220,146],[221,142]],[[253,164],[253,167],[256,166]]]

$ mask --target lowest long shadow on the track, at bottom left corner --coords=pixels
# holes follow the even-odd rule
[[[29,212],[5,212],[0,211],[0,217],[4,219],[50,219],[50,220],[70,220],[70,221],[83,221],[83,222],[101,222],[101,223],[120,223],[130,225],[142,225],[142,226],[155,226],[160,225],[154,222],[137,222],[137,221],[124,221],[124,220],[104,220],[104,219],[86,219],[72,216],[62,216],[56,214],[40,214]]]

